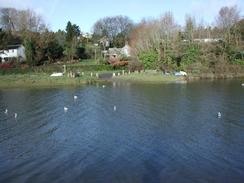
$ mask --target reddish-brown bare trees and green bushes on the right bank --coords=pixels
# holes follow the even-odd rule
[[[186,15],[180,26],[171,12],[142,20],[131,33],[131,45],[146,68],[165,72],[222,72],[244,65],[244,19],[237,6],[222,7],[213,26]],[[236,67],[234,67],[236,68]]]

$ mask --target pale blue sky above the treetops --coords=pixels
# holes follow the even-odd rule
[[[79,25],[82,32],[91,32],[93,24],[106,16],[126,15],[139,22],[167,11],[173,13],[179,24],[184,23],[185,14],[211,24],[221,7],[233,5],[244,14],[244,0],[0,0],[0,7],[33,9],[53,31],[65,29],[70,20]]]

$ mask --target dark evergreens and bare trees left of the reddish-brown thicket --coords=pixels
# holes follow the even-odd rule
[[[87,59],[94,57],[95,49],[123,46],[132,27],[133,22],[128,17],[115,16],[98,20],[93,26],[92,36],[83,34],[80,27],[70,21],[65,30],[53,32],[32,10],[1,8],[0,50],[8,45],[23,44],[30,66]]]

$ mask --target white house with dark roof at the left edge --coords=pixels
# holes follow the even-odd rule
[[[26,59],[25,57],[25,47],[21,44],[16,45],[8,45],[7,49],[0,50],[0,61],[2,63],[11,60],[11,59],[17,59],[19,61],[24,61]]]

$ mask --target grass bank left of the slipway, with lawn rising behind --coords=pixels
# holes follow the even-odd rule
[[[86,60],[75,64],[66,64],[67,74],[63,77],[50,77],[51,73],[63,72],[63,65],[51,64],[24,68],[20,65],[14,68],[0,69],[0,88],[79,86],[98,81],[96,73],[109,72],[111,69],[109,65],[98,65],[93,60]],[[80,72],[84,75],[71,78],[67,77],[69,72]],[[92,77],[91,72],[93,73]]]

